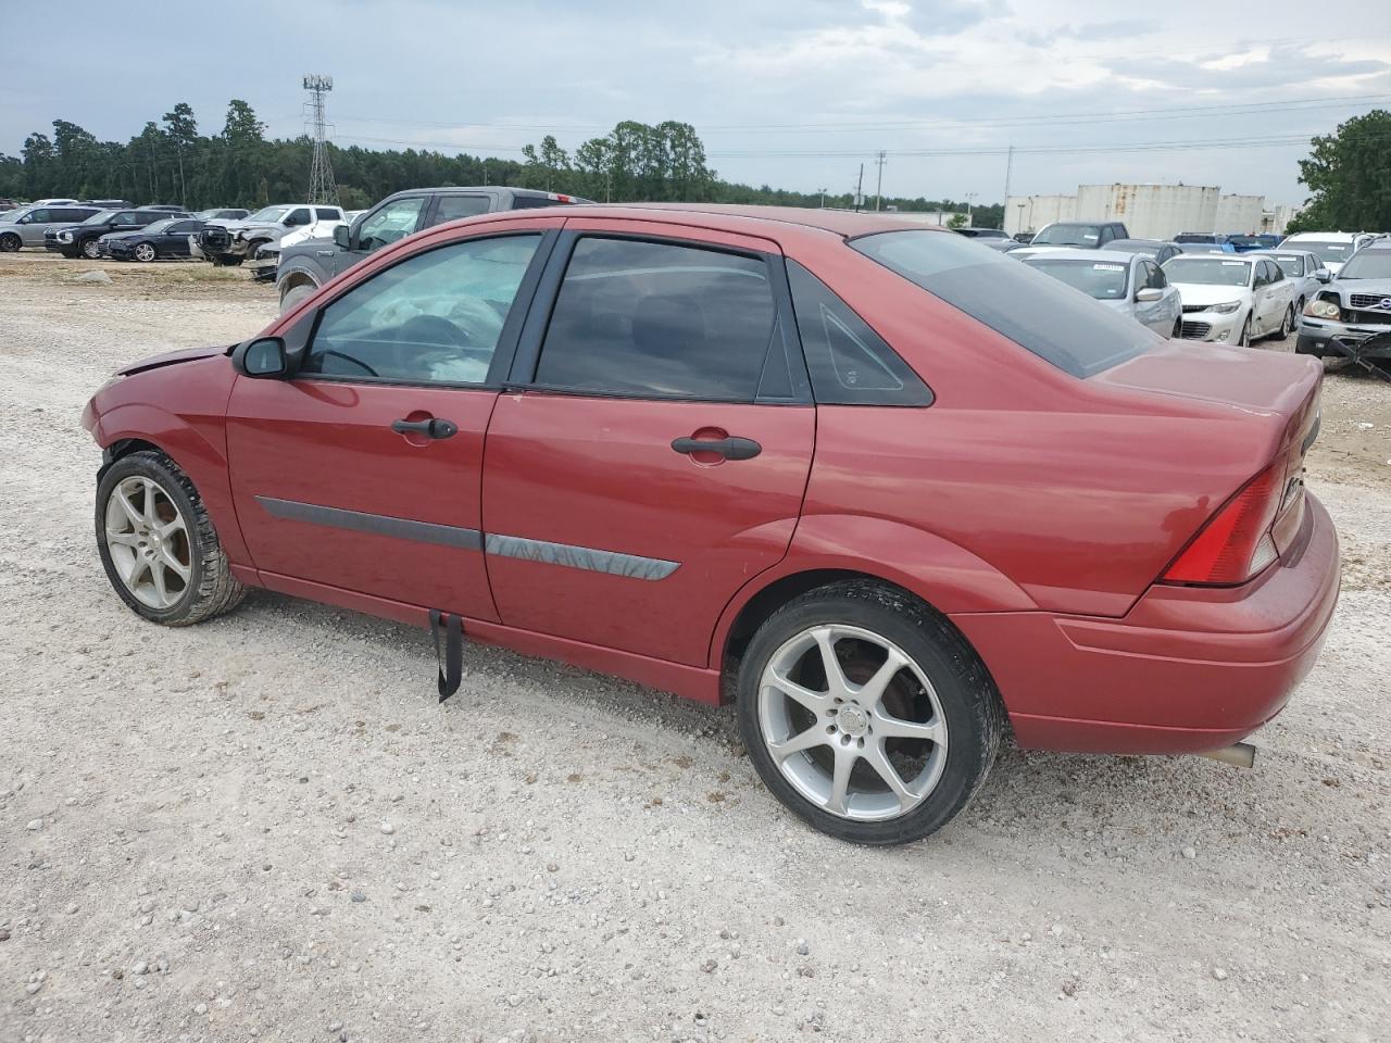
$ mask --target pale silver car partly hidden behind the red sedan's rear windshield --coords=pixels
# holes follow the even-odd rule
[[[1178,337],[1182,318],[1178,291],[1163,268],[1142,253],[1120,250],[1014,250],[1024,263],[1110,305],[1160,337]]]

